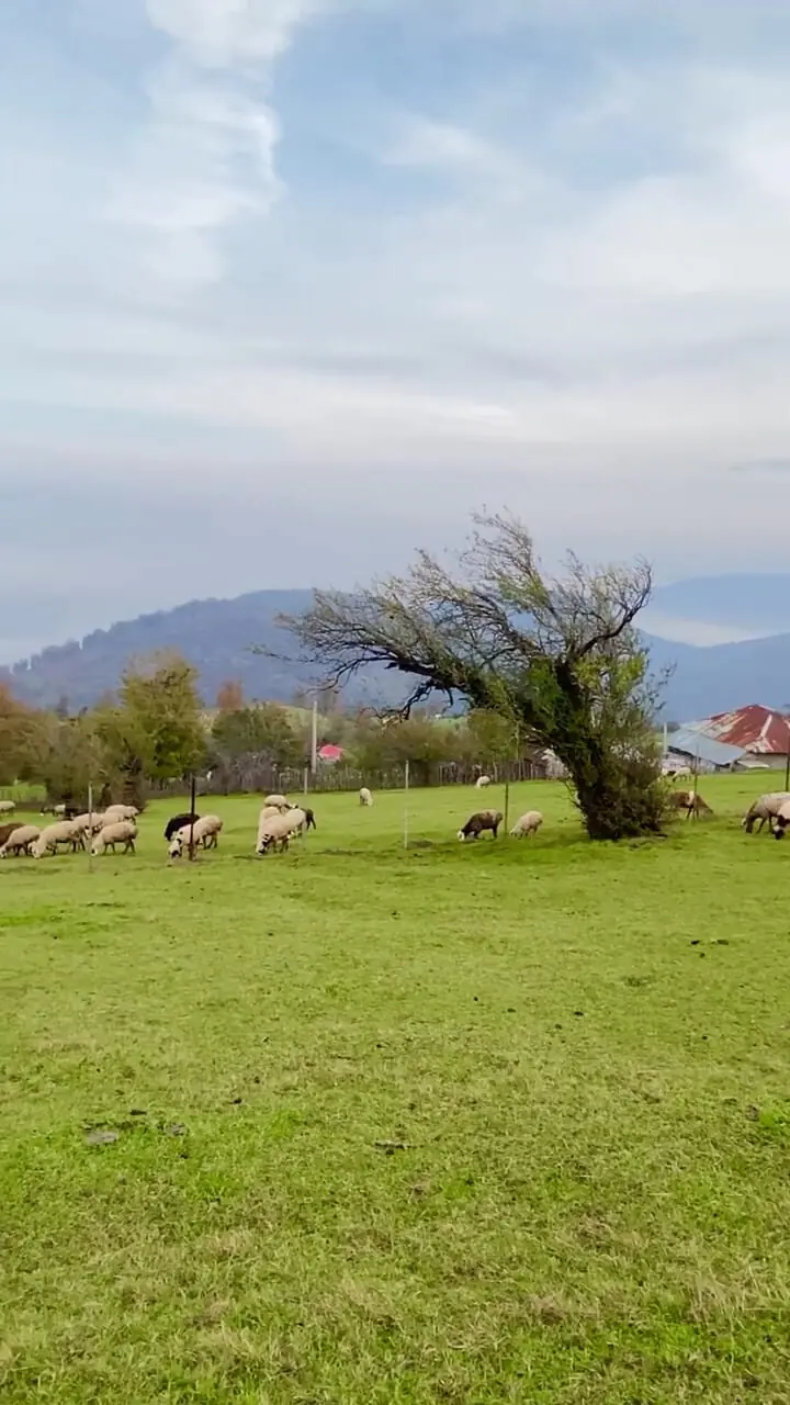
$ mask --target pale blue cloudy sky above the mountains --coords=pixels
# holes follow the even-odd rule
[[[0,662],[479,507],[548,563],[783,568],[786,0],[0,22]]]

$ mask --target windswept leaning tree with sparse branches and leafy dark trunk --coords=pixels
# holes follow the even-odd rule
[[[656,695],[634,629],[649,594],[644,562],[593,570],[571,555],[551,579],[517,518],[478,516],[454,565],[420,552],[406,576],[315,592],[281,622],[325,683],[384,666],[408,679],[406,715],[441,691],[507,717],[564,763],[590,839],[624,839],[658,832],[665,812]]]

